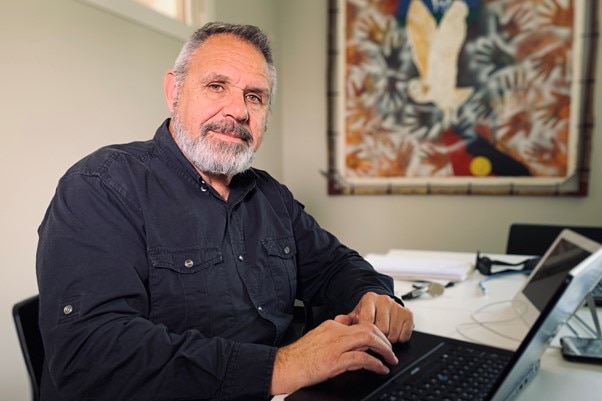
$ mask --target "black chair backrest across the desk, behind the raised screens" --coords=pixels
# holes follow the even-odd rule
[[[602,227],[514,223],[508,232],[506,253],[542,256],[565,228],[602,243]]]

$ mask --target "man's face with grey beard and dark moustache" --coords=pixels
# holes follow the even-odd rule
[[[249,168],[270,103],[270,75],[261,52],[235,36],[215,35],[194,53],[171,98],[167,86],[175,79],[168,77],[170,131],[186,157],[205,173],[232,176]]]

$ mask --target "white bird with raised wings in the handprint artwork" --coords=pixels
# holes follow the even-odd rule
[[[422,0],[411,0],[407,15],[408,41],[420,78],[408,83],[408,96],[417,103],[434,103],[443,112],[443,127],[456,121],[457,111],[473,88],[458,88],[458,56],[466,40],[468,6],[453,1],[439,26]]]

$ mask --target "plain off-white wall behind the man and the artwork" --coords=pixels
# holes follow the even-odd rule
[[[327,196],[319,173],[327,165],[326,7],[325,0],[216,1],[217,19],[256,24],[271,36],[279,66],[278,96],[256,165],[282,179],[326,228],[362,252],[502,251],[512,221],[602,225],[599,124],[586,198]],[[180,46],[75,0],[3,2],[1,399],[29,399],[10,311],[37,292],[36,229],[57,180],[102,145],[153,135],[167,116],[162,77]]]

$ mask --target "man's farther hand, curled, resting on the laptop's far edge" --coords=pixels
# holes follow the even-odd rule
[[[388,295],[373,292],[364,294],[347,315],[338,315],[335,321],[346,324],[373,323],[391,343],[406,342],[414,329],[412,311],[395,302]]]

